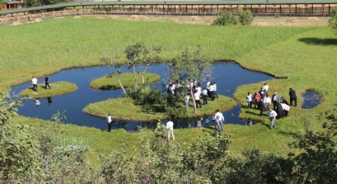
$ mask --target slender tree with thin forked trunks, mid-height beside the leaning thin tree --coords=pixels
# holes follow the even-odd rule
[[[135,43],[125,48],[124,53],[129,62],[126,66],[132,71],[135,81],[134,89],[137,90],[138,75],[142,74],[142,83],[144,83],[143,74],[147,69],[161,59],[157,54],[161,52],[161,47],[152,47],[152,54],[149,56],[150,51],[145,47],[143,43]]]

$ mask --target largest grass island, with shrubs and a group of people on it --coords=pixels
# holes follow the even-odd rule
[[[208,101],[207,105],[198,108],[197,113],[194,113],[192,103],[190,103],[190,108],[184,118],[212,116],[215,114],[216,109],[226,111],[235,106],[235,100],[219,95],[219,98],[215,99],[215,101]],[[87,105],[84,111],[101,118],[106,118],[107,114],[111,113],[111,118],[117,121],[145,122],[167,118],[166,113],[145,109],[140,105],[136,105],[131,98],[108,99],[102,102],[92,103]]]

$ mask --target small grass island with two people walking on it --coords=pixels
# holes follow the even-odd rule
[[[20,95],[22,97],[29,96],[32,98],[45,98],[67,94],[77,89],[77,86],[75,84],[71,84],[65,81],[53,82],[49,83],[49,85],[52,89],[49,89],[48,87],[44,88],[44,84],[38,84],[37,91],[34,91],[33,86],[31,86],[25,90],[22,90]]]

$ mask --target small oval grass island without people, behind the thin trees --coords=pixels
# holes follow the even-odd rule
[[[159,81],[160,76],[158,74],[145,73],[144,82],[150,84]],[[141,74],[138,75],[138,84],[141,84]],[[133,86],[135,84],[133,79],[133,74],[125,73],[121,75],[121,83],[123,87]],[[120,89],[121,86],[118,84],[118,76],[107,77],[104,76],[99,79],[91,81],[90,87],[94,89],[110,90],[110,89]]]

